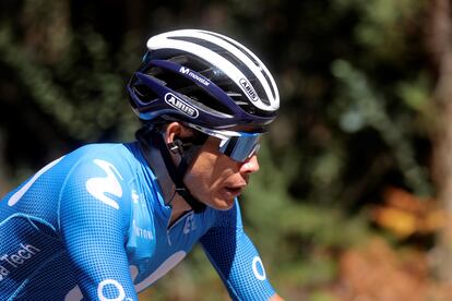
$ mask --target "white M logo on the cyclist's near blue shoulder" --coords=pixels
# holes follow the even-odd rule
[[[119,209],[118,202],[107,195],[111,194],[118,197],[122,196],[122,188],[117,178],[119,177],[119,179],[122,180],[121,174],[119,174],[118,169],[116,169],[116,167],[110,162],[95,159],[94,164],[100,167],[107,177],[88,179],[85,183],[87,192],[108,206]]]

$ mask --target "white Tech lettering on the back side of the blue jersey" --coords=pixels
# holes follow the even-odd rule
[[[3,254],[0,257],[0,281],[8,277],[11,270],[20,268],[25,262],[40,252],[40,249],[21,243],[17,251],[12,254]]]

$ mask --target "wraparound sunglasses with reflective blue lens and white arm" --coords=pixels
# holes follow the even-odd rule
[[[219,152],[239,162],[251,158],[261,147],[262,133],[212,130],[191,123],[188,125],[206,135],[219,139]]]

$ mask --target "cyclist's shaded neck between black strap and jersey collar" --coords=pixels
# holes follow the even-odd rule
[[[171,206],[171,218],[169,226],[174,224],[183,213],[191,210],[187,202],[175,191],[175,184],[166,170],[160,152],[150,146],[148,165],[157,177],[165,204]]]

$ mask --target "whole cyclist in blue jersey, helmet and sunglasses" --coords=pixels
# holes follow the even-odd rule
[[[206,31],[156,35],[128,84],[136,141],[91,144],[0,202],[1,300],[138,300],[200,242],[236,300],[281,300],[237,196],[279,106],[265,65]]]

